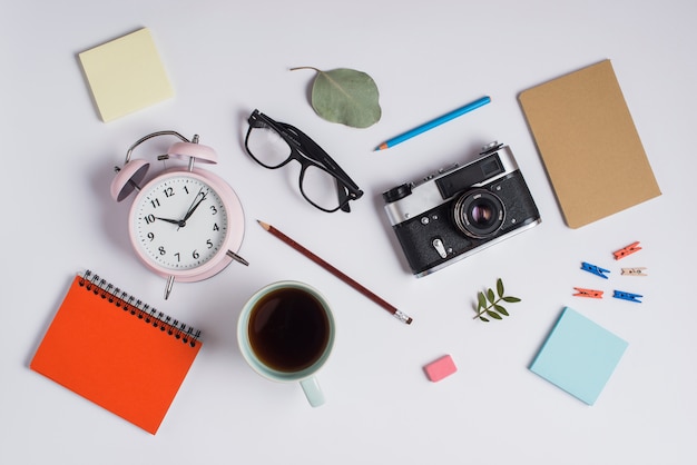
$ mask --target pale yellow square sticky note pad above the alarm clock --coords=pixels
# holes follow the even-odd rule
[[[174,96],[147,28],[86,50],[79,57],[105,122]]]

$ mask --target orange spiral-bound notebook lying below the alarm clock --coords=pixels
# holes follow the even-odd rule
[[[202,345],[199,330],[86,271],[30,368],[155,434]]]

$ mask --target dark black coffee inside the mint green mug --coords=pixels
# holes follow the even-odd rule
[[[249,315],[248,337],[259,360],[277,372],[301,372],[322,357],[330,319],[312,294],[283,287],[263,296]]]

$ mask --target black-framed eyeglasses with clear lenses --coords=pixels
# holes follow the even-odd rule
[[[305,200],[322,211],[351,211],[348,202],[363,196],[359,186],[314,140],[300,129],[254,110],[245,148],[265,168],[301,164],[300,188]]]

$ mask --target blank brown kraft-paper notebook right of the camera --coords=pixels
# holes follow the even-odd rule
[[[570,228],[660,196],[610,60],[519,100]]]

